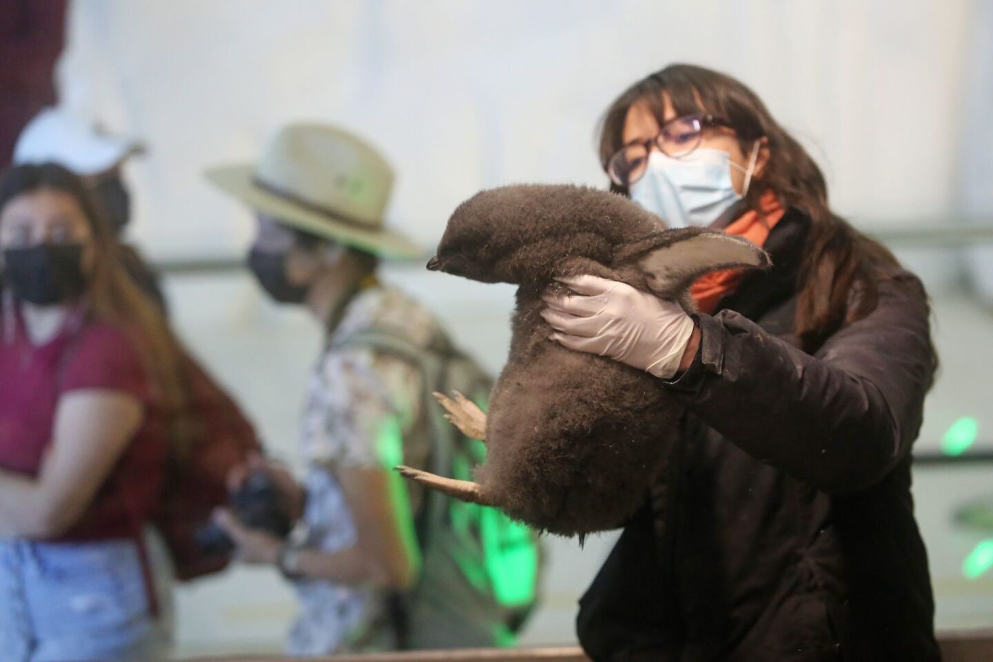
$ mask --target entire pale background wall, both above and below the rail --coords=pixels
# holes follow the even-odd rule
[[[389,217],[425,247],[481,188],[602,186],[597,119],[627,85],[672,62],[752,85],[857,223],[939,221],[957,208],[975,14],[967,0],[75,0],[62,93],[148,144],[128,171],[132,231],[158,258],[240,254],[249,216],[201,173],[251,160],[298,119],[341,123],[380,146],[398,172]],[[935,290],[957,273],[949,253],[907,257]],[[498,369],[508,288],[420,270],[390,277]],[[298,401],[320,341],[309,321],[262,302],[243,275],[180,277],[169,290],[179,329],[270,445],[294,459]],[[945,329],[939,340],[953,354],[976,335]],[[970,362],[960,353],[951,364]],[[984,384],[939,390],[925,437],[933,443],[963,398],[978,411],[987,394]],[[609,543],[582,553],[553,543],[546,607],[528,641],[572,638],[575,598]],[[180,607],[184,650],[256,652],[278,647],[292,599],[271,573],[239,570],[185,590]]]

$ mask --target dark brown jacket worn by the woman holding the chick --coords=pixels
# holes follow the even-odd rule
[[[747,277],[671,388],[684,444],[580,604],[595,660],[938,660],[911,447],[933,374],[914,276],[814,355],[793,332],[807,218]]]

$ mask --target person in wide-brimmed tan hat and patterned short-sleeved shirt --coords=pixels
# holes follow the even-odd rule
[[[383,225],[391,168],[345,130],[294,124],[275,136],[257,165],[214,169],[208,177],[255,210],[248,265],[265,292],[306,306],[327,334],[303,413],[305,486],[270,465],[297,504],[303,540],[287,544],[250,530],[230,511],[217,520],[242,561],[276,567],[294,581],[302,609],[289,650],[507,643],[502,614],[476,598],[455,562],[459,550],[428,546],[418,526],[431,515],[429,503],[447,513],[446,497],[432,501],[393,470],[455,451],[451,436],[431,432],[437,405],[430,393],[440,386],[416,359],[363,339],[370,332],[392,337],[408,348],[401,354],[454,352],[429,311],[376,278],[380,258],[423,256]],[[413,595],[423,597],[416,609]]]

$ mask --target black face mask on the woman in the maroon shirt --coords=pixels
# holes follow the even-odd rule
[[[3,283],[20,301],[51,306],[82,293],[82,246],[41,243],[3,253]]]

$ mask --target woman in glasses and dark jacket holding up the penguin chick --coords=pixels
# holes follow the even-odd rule
[[[820,170],[738,80],[674,65],[608,109],[614,191],[765,247],[694,284],[699,313],[592,276],[563,345],[686,407],[658,484],[581,600],[595,660],[939,659],[911,449],[937,359],[922,283],[831,211]]]

